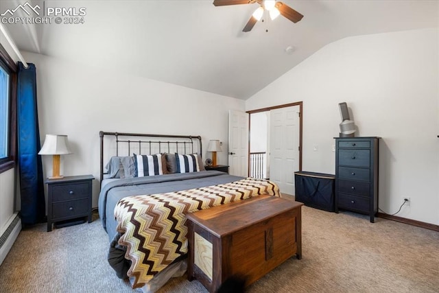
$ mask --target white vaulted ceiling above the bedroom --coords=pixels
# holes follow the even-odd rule
[[[2,0],[0,13],[25,2]],[[248,33],[242,29],[257,4],[27,2],[45,11],[85,8],[86,15],[80,24],[5,24],[23,51],[239,99],[248,99],[335,40],[439,25],[439,1],[423,0],[283,1],[303,19],[292,23],[264,16]]]

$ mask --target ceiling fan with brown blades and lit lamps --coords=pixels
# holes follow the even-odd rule
[[[243,32],[250,32],[254,25],[261,20],[264,11],[268,11],[270,14],[270,19],[276,19],[279,14],[282,14],[287,19],[293,23],[297,23],[302,19],[303,15],[296,10],[290,8],[287,4],[281,1],[275,0],[214,0],[213,5],[224,6],[224,5],[237,5],[237,4],[252,4],[258,3],[259,8],[254,10],[252,16],[248,20],[248,23],[242,30]]]

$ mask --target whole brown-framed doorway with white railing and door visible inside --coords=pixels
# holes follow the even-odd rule
[[[294,172],[302,170],[302,102],[247,113],[249,176],[269,178],[283,194],[294,195]]]

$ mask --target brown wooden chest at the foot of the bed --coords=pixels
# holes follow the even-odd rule
[[[188,279],[216,292],[230,276],[243,276],[249,285],[289,257],[300,259],[301,206],[257,196],[188,213]]]

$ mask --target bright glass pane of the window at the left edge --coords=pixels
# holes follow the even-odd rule
[[[9,156],[10,75],[0,67],[0,160]]]

